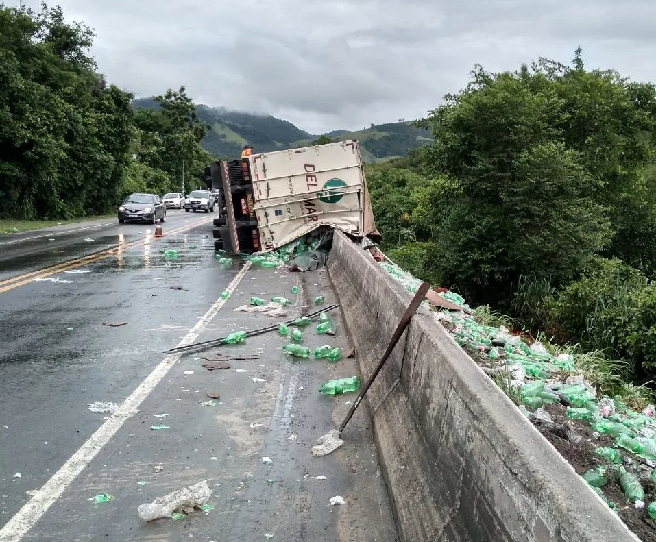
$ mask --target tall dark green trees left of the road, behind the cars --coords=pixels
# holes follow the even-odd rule
[[[0,28],[1,218],[107,212],[133,190],[178,188],[182,160],[200,175],[205,128],[184,88],[135,117],[132,95],[95,71],[93,31],[61,8],[0,5]]]

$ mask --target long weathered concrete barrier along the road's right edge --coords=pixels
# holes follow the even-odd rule
[[[328,270],[367,378],[411,296],[341,233]],[[638,540],[426,310],[367,395],[403,541]]]

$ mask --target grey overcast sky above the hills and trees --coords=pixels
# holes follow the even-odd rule
[[[4,0],[6,4],[19,0]],[[24,1],[38,8],[38,1]],[[654,81],[653,0],[60,0],[95,29],[99,71],[137,97],[197,103],[319,134],[417,119],[477,62],[546,56]]]

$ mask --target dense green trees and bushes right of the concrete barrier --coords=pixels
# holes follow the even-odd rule
[[[418,123],[433,145],[368,167],[382,248],[488,325],[569,349],[601,391],[644,404],[656,380],[655,122],[652,84],[586,69],[580,49],[568,65],[476,66]]]

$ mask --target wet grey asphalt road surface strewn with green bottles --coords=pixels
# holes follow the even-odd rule
[[[324,458],[309,453],[354,398],[324,397],[317,386],[357,374],[354,360],[287,358],[280,349],[287,341],[277,334],[212,349],[260,356],[231,361],[230,369],[204,369],[204,353],[164,354],[185,337],[202,341],[277,323],[234,312],[252,295],[293,299],[288,317],[315,310],[311,299],[319,293],[335,302],[325,270],[243,273],[239,258],[222,268],[214,258],[215,216],[169,211],[162,239],[152,238],[151,225],[112,220],[0,236],[0,541],[397,539],[364,408],[341,449]],[[171,248],[179,256],[167,260],[162,253]],[[98,256],[74,260],[90,254]],[[231,283],[230,298],[217,303]],[[110,322],[127,323],[103,325]],[[341,325],[335,337],[306,328],[307,346],[348,343]],[[130,417],[88,410],[95,401],[121,404],[139,390],[145,398]],[[201,404],[208,392],[221,395],[218,405]],[[152,430],[156,424],[168,428]],[[66,462],[85,449],[93,458],[74,476]],[[164,469],[156,473],[156,465]],[[313,478],[320,475],[327,479]],[[138,519],[139,504],[200,480],[209,480],[212,510],[178,521]],[[56,498],[34,496],[44,484],[56,488]],[[89,500],[103,492],[114,500]],[[336,495],[347,504],[330,506]],[[32,516],[37,521],[25,532],[18,519]]]

